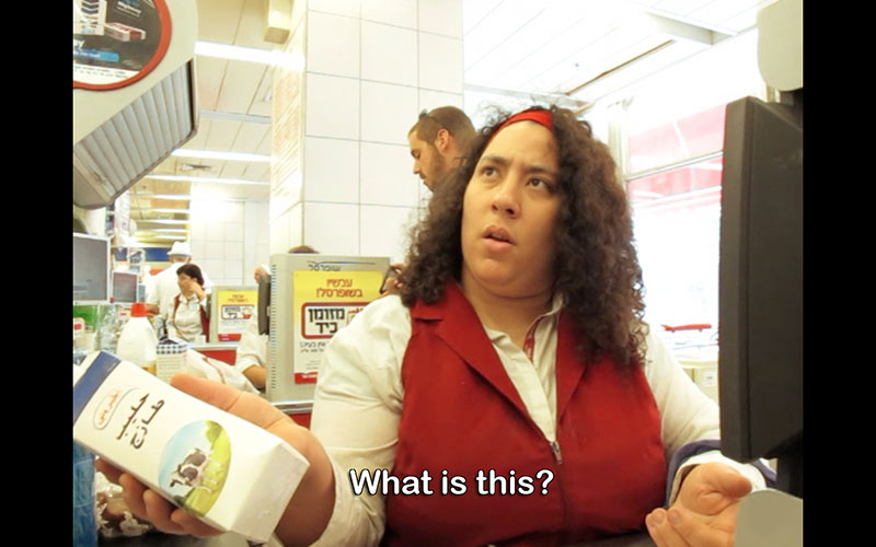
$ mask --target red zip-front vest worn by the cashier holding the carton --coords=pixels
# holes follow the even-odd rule
[[[456,283],[436,304],[417,303],[412,322],[392,475],[427,470],[434,493],[387,497],[384,545],[564,545],[639,529],[664,503],[660,414],[642,369],[621,373],[610,359],[581,362],[561,314],[552,445]],[[498,482],[495,493],[479,493],[477,472],[491,469],[505,477],[505,494]],[[542,469],[553,474],[546,494]],[[463,494],[452,493],[453,476],[464,478]],[[532,477],[528,496],[525,476]],[[489,481],[483,487],[488,492]]]

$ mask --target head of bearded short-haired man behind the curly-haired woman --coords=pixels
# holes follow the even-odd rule
[[[419,113],[419,119],[407,132],[414,174],[430,190],[459,165],[475,131],[469,116],[456,106],[439,106]]]

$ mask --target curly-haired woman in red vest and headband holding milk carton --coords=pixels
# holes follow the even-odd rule
[[[717,407],[648,333],[629,202],[587,123],[502,116],[413,236],[401,294],[326,347],[310,430],[173,380],[308,458],[286,545],[567,545],[646,527],[660,547],[731,543],[764,477],[710,450]],[[135,514],[214,533],[126,481]]]

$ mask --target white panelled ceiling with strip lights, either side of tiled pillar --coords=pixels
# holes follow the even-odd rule
[[[372,0],[380,1],[380,0]],[[500,91],[548,96],[586,108],[645,75],[678,63],[756,24],[775,0],[461,0],[464,85],[468,95]],[[264,0],[197,0],[198,39],[272,49],[263,39]],[[185,149],[270,153],[270,69],[267,65],[197,56],[197,135]],[[621,70],[621,68],[623,70]],[[138,229],[150,219],[186,214],[185,200],[150,194],[209,195],[267,200],[269,164],[171,156],[154,172],[254,181],[216,184],[145,178],[131,190]],[[183,228],[185,228],[183,225]],[[162,244],[146,232],[143,244]]]

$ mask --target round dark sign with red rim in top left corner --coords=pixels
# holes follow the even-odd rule
[[[130,85],[158,66],[170,40],[164,0],[73,0],[73,89]]]

